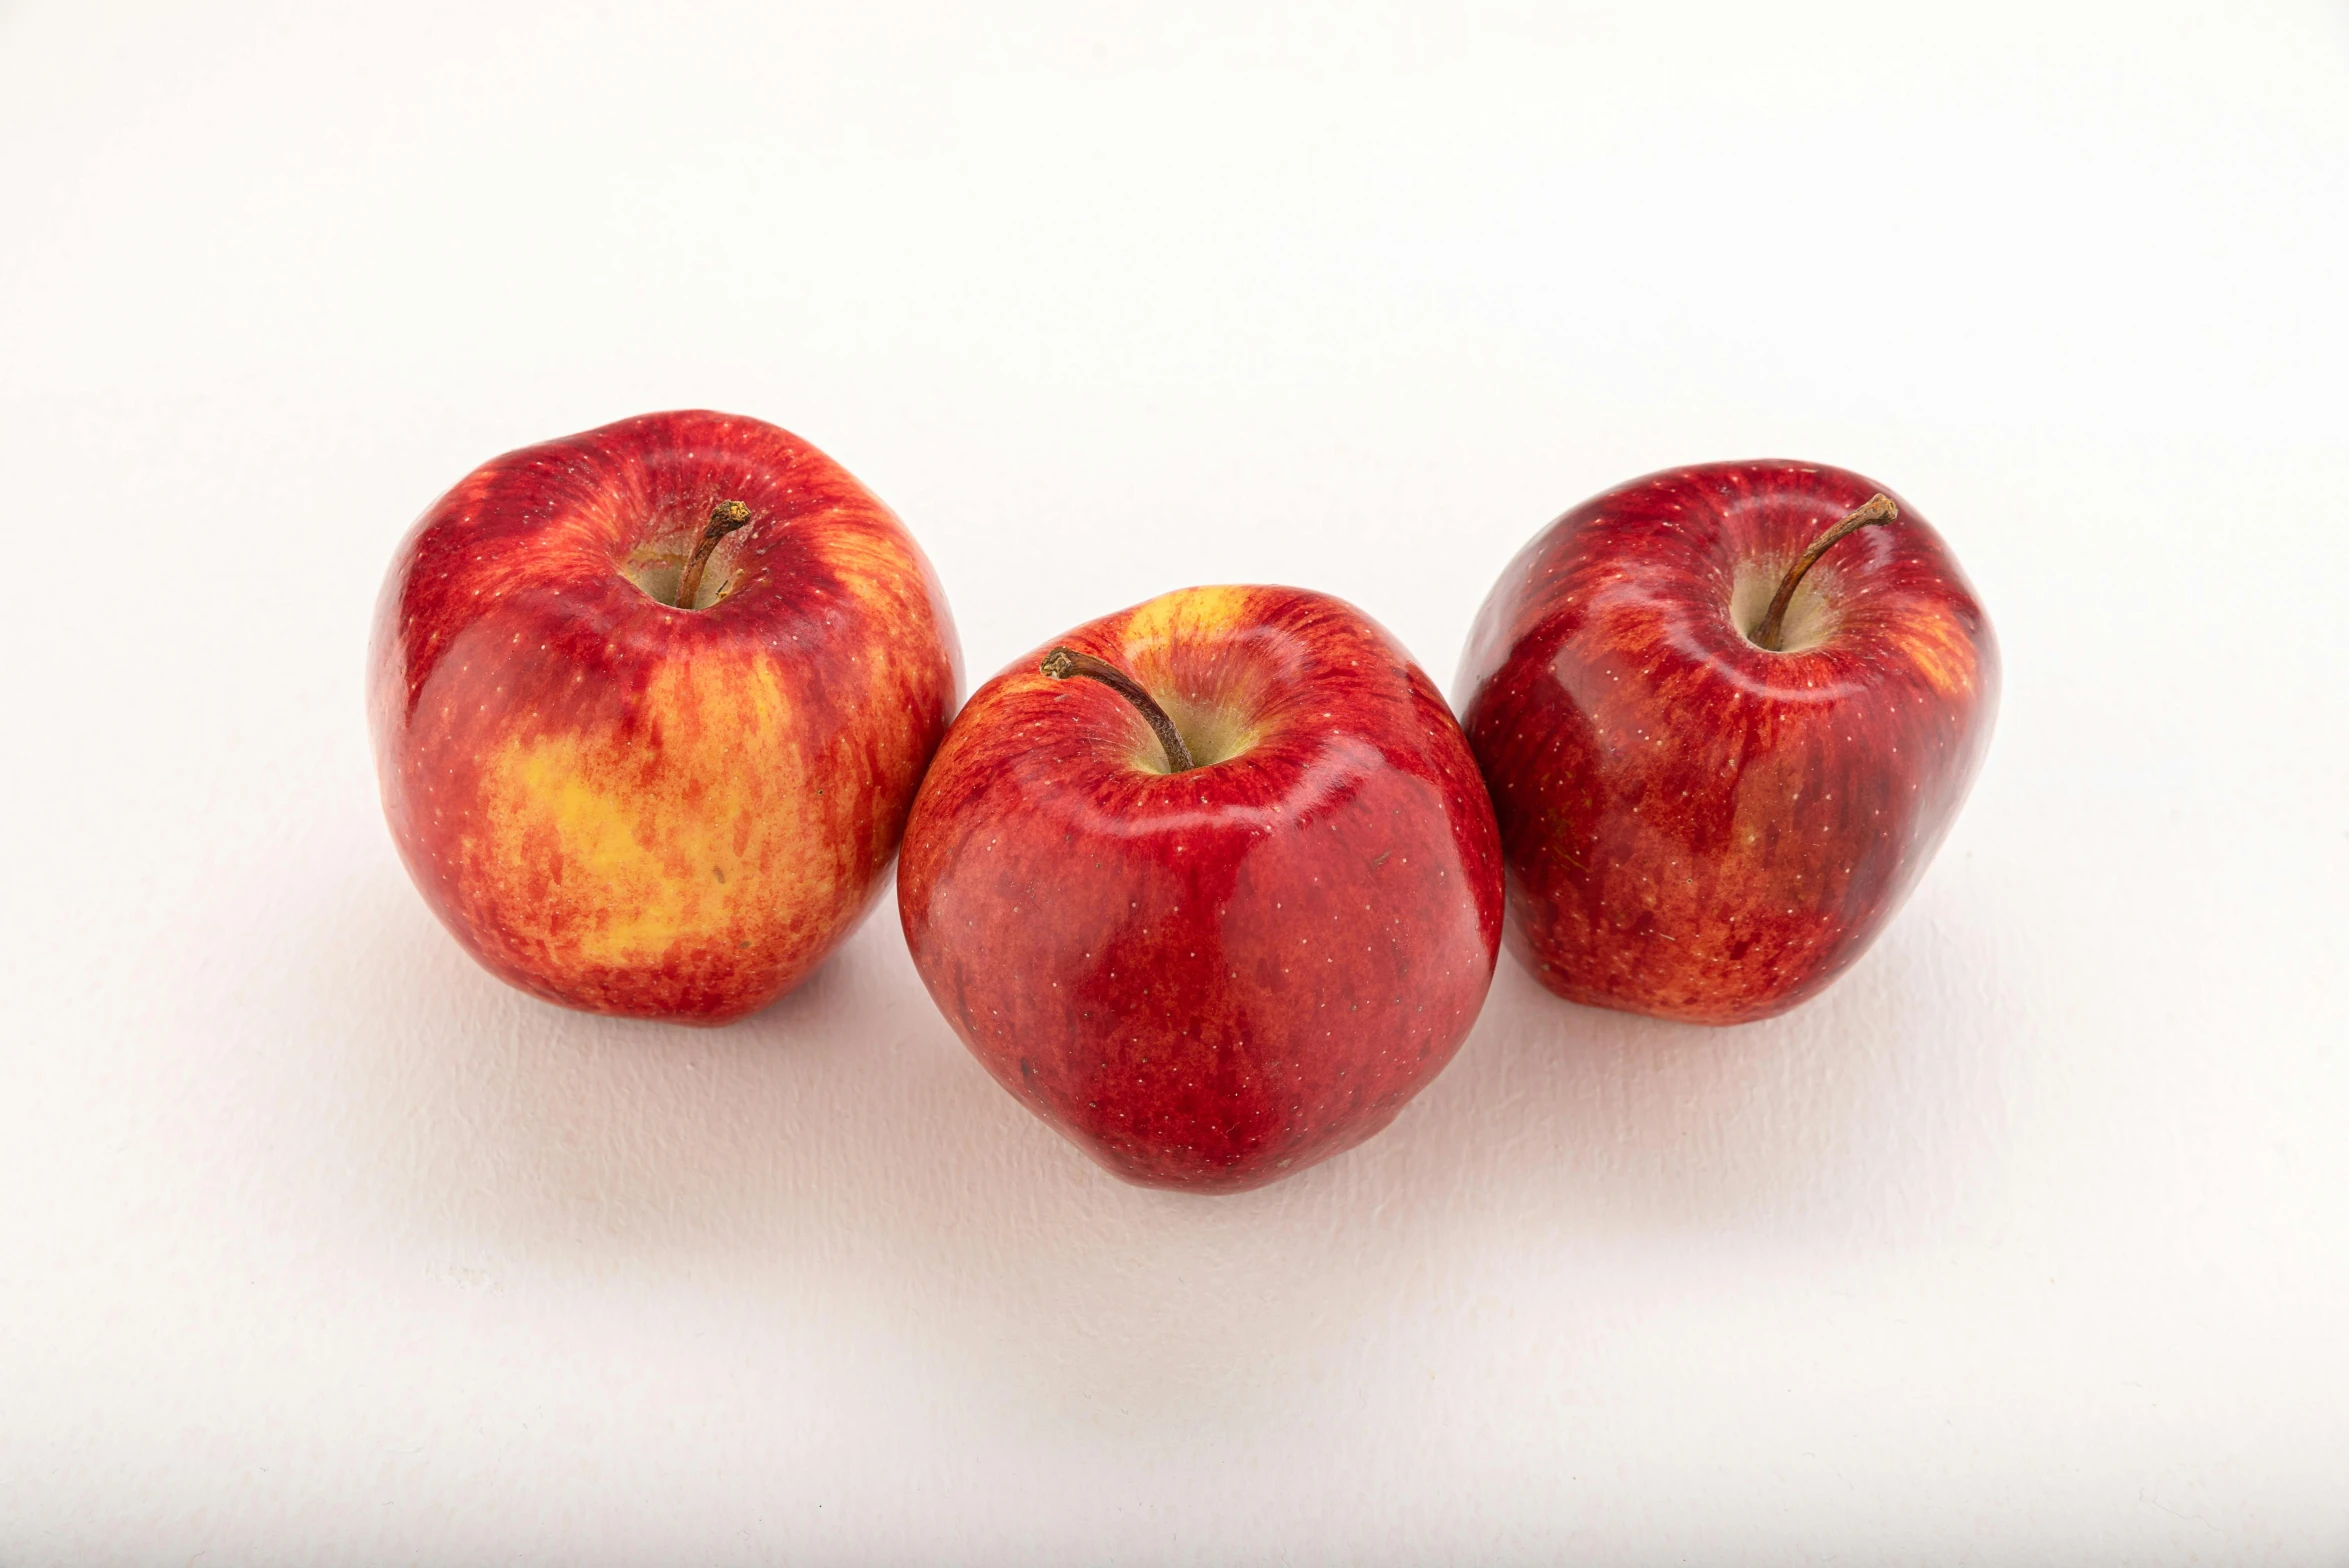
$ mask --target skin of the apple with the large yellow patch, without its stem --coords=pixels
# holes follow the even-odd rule
[[[731,592],[637,587],[622,568],[667,554],[674,577],[721,500],[752,521],[700,599]],[[399,857],[484,967],[726,1023],[871,906],[958,683],[888,507],[761,420],[648,413],[484,462],[418,519],[369,721]]]

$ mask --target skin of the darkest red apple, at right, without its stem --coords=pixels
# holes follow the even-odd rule
[[[1459,695],[1508,944],[1557,995],[1766,1019],[1851,967],[1917,885],[1999,702],[1990,617],[1940,535],[1893,495],[1898,521],[1804,577],[1785,653],[1743,631],[1882,488],[1816,462],[1649,474],[1501,575]]]

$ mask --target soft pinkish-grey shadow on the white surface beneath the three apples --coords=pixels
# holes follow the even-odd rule
[[[1431,1324],[1494,1354],[1597,1357],[1600,1326],[1557,1343],[1513,1303],[1581,1296],[1576,1277],[1600,1300],[1628,1256],[1675,1263],[1668,1300],[1820,1249],[1931,1244],[1999,1143],[1994,1030],[1924,1026],[1997,1012],[1985,932],[1931,885],[1828,995],[1734,1030],[1571,1007],[1503,958],[1461,1056],[1395,1127],[1214,1199],[1118,1183],[996,1089],[888,901],[723,1030],[507,991],[397,866],[329,908],[294,972],[322,1012],[348,1009],[338,965],[364,953],[373,974],[357,991],[381,1012],[350,1030],[341,1082],[378,1155],[345,1164],[343,1199],[388,1251],[660,1291],[780,1336],[782,1359],[822,1336],[841,1366],[1048,1441],[1177,1415],[1261,1432]],[[1968,1049],[1929,1047],[1952,1038]]]

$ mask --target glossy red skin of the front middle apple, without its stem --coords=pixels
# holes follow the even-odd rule
[[[1233,1192],[1386,1127],[1475,1023],[1501,845],[1452,709],[1367,615],[1205,587],[1057,646],[1118,692],[982,685],[907,824],[897,911],[996,1080],[1125,1181]],[[1226,761],[1207,761],[1238,746]]]

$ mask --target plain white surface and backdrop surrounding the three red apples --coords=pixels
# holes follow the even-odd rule
[[[2342,5],[0,9],[0,1561],[2349,1561],[2344,300]],[[688,404],[972,676],[1276,580],[1449,688],[1555,512],[1797,455],[2006,707],[1823,1000],[1503,960],[1142,1192],[893,911],[693,1033],[411,892],[397,535]]]

